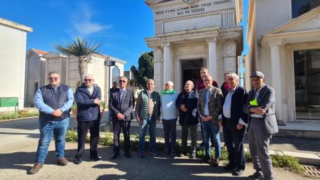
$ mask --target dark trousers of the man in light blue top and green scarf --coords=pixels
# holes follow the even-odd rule
[[[177,134],[176,134],[177,119],[162,120],[162,125],[163,125],[163,130],[165,132],[165,149],[167,149],[167,152],[175,152],[175,143],[177,140]]]

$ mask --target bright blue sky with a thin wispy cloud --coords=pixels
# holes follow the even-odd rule
[[[243,6],[241,26],[246,25],[248,0]],[[101,53],[126,60],[125,70],[138,65],[141,53],[151,51],[144,38],[154,36],[153,12],[144,0],[1,1],[0,18],[33,28],[27,49],[55,51],[55,43],[83,36],[104,43]],[[248,46],[243,53],[248,53]]]

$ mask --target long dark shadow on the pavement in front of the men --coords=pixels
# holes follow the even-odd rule
[[[76,147],[76,144],[74,145]],[[70,164],[73,164],[77,150],[67,149],[65,152]],[[100,147],[99,155],[102,156],[102,160],[93,162],[92,166],[86,168],[88,170],[105,169],[106,174],[97,179],[246,179],[246,177],[224,176],[226,171],[222,168],[222,164],[214,168],[207,164],[201,164],[199,159],[173,159],[161,155],[153,157],[149,154],[140,159],[137,152],[132,153],[131,159],[123,157],[123,152],[121,152],[118,159],[111,160],[113,150],[110,147]],[[19,169],[27,174],[33,166],[35,154],[36,152],[0,154],[0,169]],[[84,152],[84,162],[89,162],[89,149]],[[44,166],[48,164],[56,164],[54,151],[48,152]],[[75,171],[83,168],[83,164],[75,165]]]

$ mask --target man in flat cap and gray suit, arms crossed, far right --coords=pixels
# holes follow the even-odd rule
[[[265,75],[260,71],[255,71],[250,78],[254,89],[250,90],[243,111],[248,114],[249,149],[256,171],[248,179],[275,179],[269,155],[272,134],[278,132],[275,90],[265,85]]]

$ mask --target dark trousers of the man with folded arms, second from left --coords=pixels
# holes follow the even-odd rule
[[[84,144],[86,143],[86,137],[90,130],[90,157],[94,158],[98,156],[97,147],[99,142],[99,120],[78,122],[78,150],[77,159],[82,159],[84,153]]]

